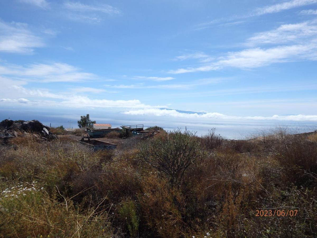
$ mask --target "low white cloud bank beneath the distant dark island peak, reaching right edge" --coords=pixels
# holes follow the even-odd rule
[[[317,115],[291,115],[291,116],[228,116],[221,113],[188,114],[176,110],[148,108],[122,112],[127,115],[148,115],[148,116],[172,116],[189,119],[222,119],[222,120],[278,120],[278,121],[316,121]]]

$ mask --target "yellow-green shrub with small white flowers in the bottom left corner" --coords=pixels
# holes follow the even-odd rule
[[[43,185],[45,187],[45,185]],[[0,237],[110,237],[107,212],[80,212],[71,200],[49,198],[36,182],[24,182],[0,194]]]

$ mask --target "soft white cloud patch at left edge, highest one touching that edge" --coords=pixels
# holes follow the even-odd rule
[[[0,21],[0,51],[32,53],[34,48],[44,46],[43,39],[28,30],[27,24]]]

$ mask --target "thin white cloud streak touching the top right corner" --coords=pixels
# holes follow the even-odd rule
[[[267,13],[280,12],[283,10],[288,10],[288,9],[297,8],[301,6],[307,6],[314,3],[317,3],[317,0],[292,0],[292,1],[284,2],[284,3],[278,3],[278,4],[258,8],[256,9],[255,15],[263,15]]]

